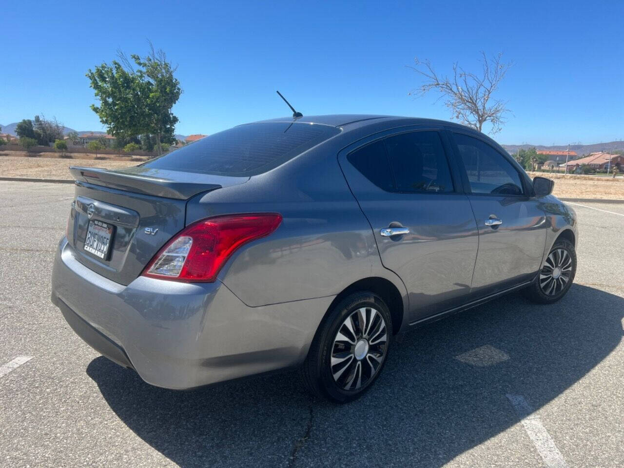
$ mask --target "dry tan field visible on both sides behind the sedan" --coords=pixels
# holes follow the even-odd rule
[[[21,153],[21,154],[20,154]],[[42,153],[27,157],[26,152],[0,151],[0,176],[71,179],[69,166],[102,167],[114,169],[139,164],[144,158],[106,155],[95,159],[92,154],[73,154],[73,158],[59,158],[57,153]],[[553,193],[562,198],[595,198],[624,200],[624,177],[594,177],[591,175],[564,175],[530,172],[530,177],[541,175],[555,180]]]

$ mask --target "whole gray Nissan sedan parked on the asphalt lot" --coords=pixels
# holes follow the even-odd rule
[[[52,301],[165,388],[300,368],[350,401],[397,334],[510,291],[553,303],[577,265],[553,182],[449,122],[296,114],[71,172]]]

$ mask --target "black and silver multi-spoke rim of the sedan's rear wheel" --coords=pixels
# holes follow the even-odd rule
[[[388,328],[383,316],[371,307],[353,311],[336,333],[331,350],[331,373],[347,391],[365,386],[386,358]]]

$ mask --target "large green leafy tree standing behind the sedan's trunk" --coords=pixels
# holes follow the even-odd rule
[[[174,76],[177,67],[151,43],[146,57],[127,57],[120,51],[117,57],[119,61],[103,63],[87,72],[90,87],[99,99],[99,105],[91,109],[116,138],[154,135],[160,154],[162,143],[170,144],[175,139],[178,118],[171,110],[182,94]]]

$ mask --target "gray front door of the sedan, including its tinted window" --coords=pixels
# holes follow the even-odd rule
[[[509,155],[475,135],[452,134],[479,227],[472,295],[532,280],[546,242],[545,215]]]

